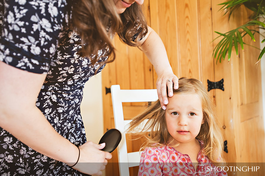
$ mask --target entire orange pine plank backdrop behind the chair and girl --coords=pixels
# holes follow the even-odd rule
[[[260,65],[255,65],[259,51],[250,47],[240,51],[231,61],[216,64],[212,53],[217,41],[214,31],[227,32],[248,20],[249,11],[231,18],[218,11],[223,0],[146,0],[145,13],[149,26],[161,37],[173,72],[178,77],[201,80],[224,79],[224,91],[212,89],[209,96],[216,104],[220,129],[227,140],[229,163],[264,162],[264,126],[261,101]],[[238,17],[240,17],[238,20]],[[248,40],[248,39],[247,39]],[[259,41],[256,42],[257,45]],[[121,89],[154,89],[157,75],[145,55],[137,48],[121,44],[114,38],[116,60],[102,71],[104,129],[114,128],[111,94],[106,88],[120,84]],[[255,85],[255,86],[254,86]],[[124,117],[130,119],[142,110],[142,103],[124,104]],[[129,151],[138,151],[142,141],[131,145]],[[257,145],[256,145],[257,143]],[[109,161],[106,175],[119,175],[116,150]],[[138,168],[130,175],[137,175]],[[228,175],[243,175],[228,172]]]

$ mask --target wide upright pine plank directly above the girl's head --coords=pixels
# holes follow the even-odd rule
[[[197,1],[177,1],[177,21],[180,33],[181,76],[201,80]]]

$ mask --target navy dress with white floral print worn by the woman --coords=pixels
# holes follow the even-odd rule
[[[84,144],[80,115],[83,88],[96,71],[103,69],[108,48],[98,51],[103,57],[95,65],[77,54],[80,38],[68,28],[68,0],[0,0],[0,9],[0,61],[47,74],[36,106],[60,135],[76,146]],[[32,150],[0,128],[0,176],[14,175],[82,174]]]

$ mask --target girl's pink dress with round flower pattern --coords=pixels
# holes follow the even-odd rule
[[[201,142],[203,146],[203,142]],[[222,167],[209,162],[202,150],[197,156],[197,170],[190,157],[169,146],[147,147],[141,154],[138,176],[227,176]]]

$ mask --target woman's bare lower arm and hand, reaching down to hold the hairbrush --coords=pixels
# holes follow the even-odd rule
[[[0,61],[0,126],[22,143],[43,155],[73,165],[78,159],[78,148],[58,134],[36,107],[36,99],[45,80],[35,74]],[[80,158],[75,169],[101,175],[111,154],[99,149],[104,145],[92,142],[80,146]],[[84,163],[99,163],[88,168]]]

